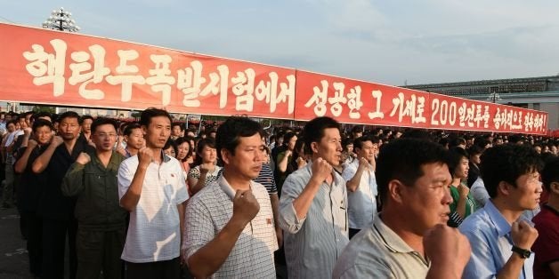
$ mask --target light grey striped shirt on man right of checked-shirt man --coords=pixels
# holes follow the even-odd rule
[[[336,260],[349,243],[347,236],[347,191],[342,177],[332,171],[332,185],[323,182],[304,219],[298,219],[293,200],[312,176],[312,163],[291,173],[279,200],[279,226],[289,278],[330,278]]]

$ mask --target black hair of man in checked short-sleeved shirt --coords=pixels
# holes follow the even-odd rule
[[[228,150],[235,155],[235,148],[239,145],[240,138],[252,137],[255,134],[264,136],[262,125],[243,116],[231,116],[217,128],[215,134],[215,148],[217,156],[223,161],[221,150]],[[199,143],[198,143],[199,144]]]

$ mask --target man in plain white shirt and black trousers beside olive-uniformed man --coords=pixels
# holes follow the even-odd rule
[[[188,199],[180,163],[162,148],[171,135],[171,116],[162,109],[142,112],[146,147],[118,170],[120,205],[130,211],[122,259],[127,278],[180,278],[180,248]]]

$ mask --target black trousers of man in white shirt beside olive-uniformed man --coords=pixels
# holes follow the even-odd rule
[[[126,279],[180,279],[180,258],[134,263],[126,262]]]

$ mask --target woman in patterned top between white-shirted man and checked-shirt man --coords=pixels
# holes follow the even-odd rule
[[[222,168],[216,165],[216,162],[217,152],[214,139],[198,140],[196,159],[194,161],[196,166],[190,169],[187,179],[192,195],[195,195],[203,187],[217,180]]]

